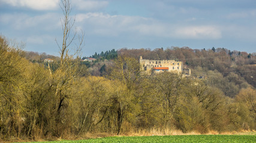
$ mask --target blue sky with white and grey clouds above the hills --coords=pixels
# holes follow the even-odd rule
[[[59,55],[61,0],[0,0],[0,35]],[[255,0],[70,0],[82,57],[111,49],[227,48],[256,52]],[[74,41],[71,49],[79,41]]]

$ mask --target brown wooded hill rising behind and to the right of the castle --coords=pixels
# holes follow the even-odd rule
[[[224,48],[191,49],[120,49],[119,55],[149,60],[179,60],[192,70],[192,77],[208,79],[227,95],[234,97],[247,83],[256,88],[256,53],[230,51]],[[232,93],[233,92],[233,93]]]

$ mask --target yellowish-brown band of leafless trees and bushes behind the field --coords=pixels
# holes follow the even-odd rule
[[[245,83],[238,84],[239,91],[230,98],[212,86],[219,80],[167,72],[142,76],[138,60],[128,52],[119,55],[100,77],[82,74],[86,71],[80,59],[61,55],[52,70],[50,64],[22,58],[21,51],[13,47],[0,38],[1,139],[152,129],[165,134],[168,130],[207,133],[256,129],[256,90],[239,78],[237,84]]]

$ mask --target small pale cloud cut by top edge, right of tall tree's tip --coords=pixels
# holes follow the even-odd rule
[[[79,10],[85,10],[85,11],[99,10],[109,5],[108,1],[73,0],[72,2],[74,7],[78,8]]]

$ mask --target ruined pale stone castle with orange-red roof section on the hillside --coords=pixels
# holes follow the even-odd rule
[[[141,70],[146,74],[159,73],[162,71],[176,72],[190,76],[190,69],[183,69],[182,61],[174,60],[146,60],[140,57]]]

